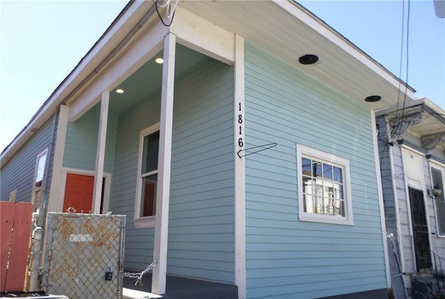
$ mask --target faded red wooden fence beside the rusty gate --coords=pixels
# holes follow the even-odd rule
[[[31,239],[31,202],[0,202],[0,291],[23,291]]]

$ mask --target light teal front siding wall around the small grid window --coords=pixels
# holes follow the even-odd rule
[[[245,49],[248,298],[386,289],[370,111],[251,43]],[[354,225],[298,220],[296,143],[350,161]]]

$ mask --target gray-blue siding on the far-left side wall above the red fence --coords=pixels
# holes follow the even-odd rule
[[[49,151],[47,168],[45,170],[47,173],[45,193],[49,194],[52,170],[51,138],[53,136],[53,129],[54,116],[35,132],[6,165],[1,166],[1,200],[9,200],[10,192],[17,188],[15,202],[31,201],[37,155],[46,148],[48,148]]]

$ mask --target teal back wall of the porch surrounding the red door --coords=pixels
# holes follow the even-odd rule
[[[99,132],[100,103],[84,115],[69,122],[63,155],[63,167],[94,171],[96,167],[97,136]],[[108,113],[104,172],[113,172],[116,127],[118,115]]]

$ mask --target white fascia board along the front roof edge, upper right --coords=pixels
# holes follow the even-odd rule
[[[323,35],[324,38],[330,40],[332,43],[334,43],[334,45],[337,45],[337,47],[340,47],[341,49],[343,49],[343,51],[346,51],[346,53],[350,54],[350,56],[353,56],[355,59],[359,60],[360,63],[366,65],[366,67],[369,67],[370,70],[381,76],[383,79],[385,79],[385,81],[391,83],[392,86],[396,88],[399,88],[400,84],[403,87],[406,86],[409,90],[409,92],[407,92],[407,96],[411,99],[414,98],[414,88],[412,88],[411,86],[407,86],[405,82],[401,81],[401,79],[398,79],[397,76],[389,72],[389,70],[380,65],[380,63],[371,58],[371,56],[369,56],[364,51],[359,49],[359,47],[354,45],[353,42],[350,42],[339,32],[332,29],[332,27],[316,17],[316,15],[311,13],[304,6],[301,6],[299,3],[293,0],[273,0],[273,2],[275,2],[277,6],[280,6],[297,19],[300,19],[300,21],[307,24],[307,26],[309,26],[310,28]]]

